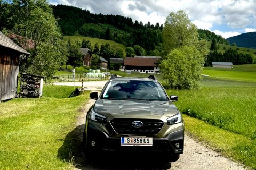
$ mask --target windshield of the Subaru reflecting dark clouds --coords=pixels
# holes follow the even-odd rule
[[[167,101],[168,97],[158,82],[154,81],[110,81],[103,91],[102,99],[137,99]]]

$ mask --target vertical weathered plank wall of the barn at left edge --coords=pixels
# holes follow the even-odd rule
[[[0,102],[17,93],[20,53],[0,46]]]

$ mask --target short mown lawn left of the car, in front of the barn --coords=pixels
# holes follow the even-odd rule
[[[41,98],[0,103],[0,169],[73,169],[72,150],[60,148],[89,97],[68,98],[73,90],[49,85]]]

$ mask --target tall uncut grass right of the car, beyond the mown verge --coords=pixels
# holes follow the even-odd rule
[[[256,139],[255,87],[216,87],[169,91],[179,95],[182,113],[230,132]]]

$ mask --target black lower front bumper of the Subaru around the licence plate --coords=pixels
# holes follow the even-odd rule
[[[170,154],[182,154],[184,147],[184,129],[175,131],[167,135],[166,138],[153,138],[153,146],[121,146],[120,138],[109,137],[105,132],[95,130],[93,127],[87,128],[87,143],[92,149],[102,149],[104,151],[161,151]],[[92,145],[93,143],[93,145]],[[176,148],[175,143],[179,143]]]

